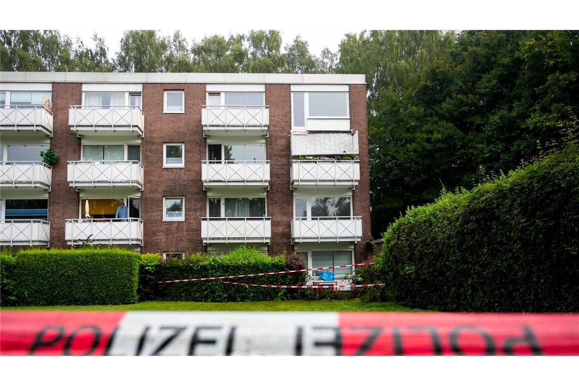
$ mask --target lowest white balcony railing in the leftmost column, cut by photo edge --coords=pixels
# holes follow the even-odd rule
[[[50,222],[45,220],[0,221],[0,245],[50,246]]]

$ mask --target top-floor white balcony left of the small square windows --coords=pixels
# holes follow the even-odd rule
[[[145,135],[145,114],[137,106],[70,106],[68,124],[77,135]]]

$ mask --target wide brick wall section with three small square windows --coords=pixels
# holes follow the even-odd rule
[[[141,198],[144,226],[142,252],[205,251],[201,217],[206,216],[206,193],[201,182],[201,160],[206,159],[206,139],[201,130],[201,105],[205,84],[143,84],[142,109],[145,137],[141,162],[145,189]],[[163,91],[185,91],[185,113],[163,113]],[[163,168],[163,143],[185,144],[185,167]],[[163,197],[185,197],[185,221],[163,222]]]

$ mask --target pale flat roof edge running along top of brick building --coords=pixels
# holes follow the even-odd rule
[[[365,84],[364,74],[215,72],[0,72],[0,82]]]

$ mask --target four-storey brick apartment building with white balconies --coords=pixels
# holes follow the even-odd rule
[[[364,75],[1,72],[0,129],[12,251],[366,256]]]

